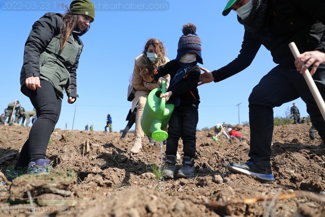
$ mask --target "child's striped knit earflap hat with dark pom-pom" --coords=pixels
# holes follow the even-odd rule
[[[201,39],[196,32],[196,26],[193,23],[186,23],[183,25],[182,29],[183,35],[179,38],[179,48],[177,49],[176,59],[188,53],[195,52],[196,60],[198,63],[203,64],[202,55],[201,55]]]

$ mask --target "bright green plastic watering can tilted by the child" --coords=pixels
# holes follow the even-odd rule
[[[156,141],[168,138],[166,129],[170,116],[174,111],[174,104],[166,104],[166,98],[160,99],[160,94],[166,93],[166,81],[162,81],[162,87],[150,91],[146,105],[141,116],[141,127],[146,135]]]

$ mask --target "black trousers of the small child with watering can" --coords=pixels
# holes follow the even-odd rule
[[[166,155],[176,156],[179,138],[181,138],[184,156],[190,157],[190,159],[195,158],[197,109],[197,105],[179,106],[174,109],[168,122]]]

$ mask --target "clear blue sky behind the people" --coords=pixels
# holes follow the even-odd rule
[[[26,110],[33,110],[29,98],[20,92],[24,44],[34,21],[46,12],[63,13],[63,10],[55,0],[17,2],[0,1],[0,109],[17,99]],[[35,5],[31,5],[33,2]],[[113,130],[124,129],[131,107],[131,102],[126,100],[128,78],[133,71],[134,58],[142,52],[150,37],[160,39],[167,57],[174,59],[182,24],[193,22],[202,40],[202,67],[211,71],[227,65],[241,48],[244,28],[238,23],[236,13],[231,12],[227,17],[221,15],[227,0],[94,2],[97,8],[95,21],[90,31],[81,36],[84,49],[77,69],[80,98],[76,103],[68,104],[65,96],[56,128],[65,129],[67,125],[67,129],[83,130],[88,123],[94,125],[95,131],[102,131],[105,118],[110,114]],[[49,9],[41,9],[46,7]],[[269,51],[261,48],[251,66],[241,73],[219,83],[199,86],[201,103],[197,128],[212,127],[224,121],[228,124],[248,121],[248,96],[261,77],[274,66]],[[276,107],[275,117],[284,117],[292,102]],[[302,117],[307,117],[305,103],[300,98],[294,102]]]

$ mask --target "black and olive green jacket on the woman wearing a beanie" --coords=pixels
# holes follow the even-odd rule
[[[24,63],[20,72],[20,84],[26,78],[39,77],[50,82],[56,95],[62,100],[77,95],[77,73],[83,44],[79,36],[88,31],[78,27],[69,36],[63,50],[60,50],[60,31],[64,25],[62,14],[47,13],[34,24],[25,43]]]

